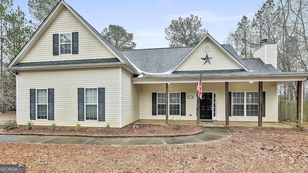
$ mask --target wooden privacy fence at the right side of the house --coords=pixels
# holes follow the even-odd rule
[[[303,101],[303,121],[308,122],[308,100]],[[296,121],[296,100],[278,100],[278,120]]]

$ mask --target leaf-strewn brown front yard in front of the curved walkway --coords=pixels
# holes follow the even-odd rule
[[[0,164],[27,172],[308,172],[308,132],[229,127],[213,143],[162,146],[77,146],[0,143]],[[150,140],[150,139],[149,139]]]

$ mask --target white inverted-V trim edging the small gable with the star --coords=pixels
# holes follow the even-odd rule
[[[249,71],[249,69],[242,64],[239,60],[237,60],[237,58],[235,58],[232,54],[230,54],[228,52],[228,50],[226,50],[223,46],[221,46],[221,44],[219,44],[209,33],[207,33],[205,35],[204,38],[202,38],[202,40],[197,44],[197,46],[195,46],[183,59],[182,61],[180,61],[170,72],[172,73],[174,70],[176,70],[176,68],[178,66],[180,66],[180,64],[182,62],[184,62],[184,60],[201,44],[201,42],[203,42],[205,40],[205,38],[209,38],[219,49],[221,49],[225,54],[227,54],[227,56],[229,56],[229,58],[231,58],[235,63],[237,63],[239,66],[241,66],[244,70]]]

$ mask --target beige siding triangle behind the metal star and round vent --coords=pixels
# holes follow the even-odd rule
[[[209,44],[211,50],[209,52],[203,51],[203,46]],[[208,54],[213,57],[210,60],[211,65],[206,63],[203,65],[204,60]],[[189,71],[189,70],[226,70],[226,69],[242,69],[235,63],[227,54],[219,49],[209,38],[205,38],[203,42],[178,66],[175,71]]]

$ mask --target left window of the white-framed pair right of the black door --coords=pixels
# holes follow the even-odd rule
[[[233,92],[232,99],[232,115],[244,116],[244,92]]]

